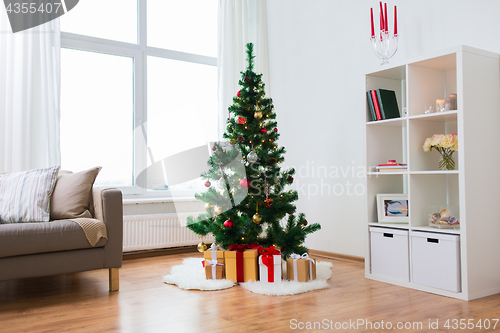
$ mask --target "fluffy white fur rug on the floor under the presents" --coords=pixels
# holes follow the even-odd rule
[[[172,267],[170,275],[163,276],[163,282],[175,284],[182,289],[220,290],[236,285],[229,280],[207,280],[201,262],[202,258],[184,259],[181,265]],[[283,280],[279,283],[263,281],[240,283],[240,285],[257,294],[280,296],[295,295],[311,290],[324,289],[329,285],[326,282],[332,276],[332,264],[329,262],[316,263],[316,280],[296,282]],[[283,275],[286,276],[286,265],[283,265]]]

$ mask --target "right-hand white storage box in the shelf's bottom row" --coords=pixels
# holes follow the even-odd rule
[[[412,281],[460,292],[460,235],[412,232]]]

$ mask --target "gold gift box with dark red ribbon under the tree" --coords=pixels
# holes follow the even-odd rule
[[[259,245],[236,245],[229,246],[225,251],[226,279],[234,282],[248,282],[258,280]]]

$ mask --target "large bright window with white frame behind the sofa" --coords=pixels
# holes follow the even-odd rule
[[[62,168],[100,165],[124,194],[192,188],[136,180],[217,138],[217,1],[86,0],[61,31]]]

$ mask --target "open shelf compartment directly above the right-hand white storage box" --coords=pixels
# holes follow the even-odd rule
[[[460,221],[458,174],[411,174],[409,189],[411,228],[428,228],[430,214],[443,207],[450,208],[452,216]],[[434,232],[455,233],[444,231],[451,229],[431,229]]]

